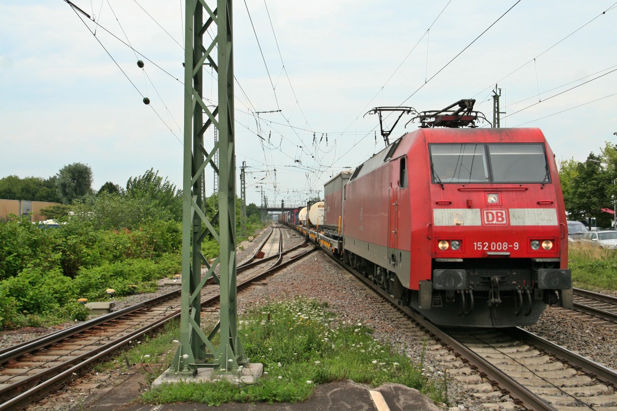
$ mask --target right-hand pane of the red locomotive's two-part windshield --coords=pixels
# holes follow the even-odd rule
[[[488,144],[492,181],[550,182],[544,144]]]

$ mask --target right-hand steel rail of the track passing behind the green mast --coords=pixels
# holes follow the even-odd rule
[[[293,256],[292,258],[290,258],[288,261],[284,261],[280,264],[276,264],[276,266],[268,268],[267,270],[263,271],[261,274],[255,275],[251,279],[247,279],[244,282],[239,283],[237,287],[238,289],[246,288],[255,280],[262,279],[262,277],[266,277],[267,275],[270,275],[273,272],[276,272],[282,269],[283,267],[288,266],[289,264],[292,264],[293,262],[296,262],[299,259],[304,258],[304,256],[307,256],[308,254],[312,253],[315,250],[317,250],[317,247],[314,247],[311,250],[304,251],[303,253],[297,254],[296,256]],[[281,258],[282,258],[282,254],[281,254]],[[219,296],[216,295],[216,296],[212,296],[211,298],[205,299],[204,301],[201,302],[201,306],[203,307],[203,306],[207,306],[208,304],[212,304],[215,301],[217,301],[218,298]],[[138,304],[138,305],[141,305],[141,304]],[[72,380],[74,373],[78,373],[80,370],[82,370],[85,367],[88,367],[90,364],[93,364],[94,362],[98,362],[102,359],[109,357],[110,355],[114,354],[114,352],[128,345],[128,341],[134,340],[135,338],[138,338],[139,336],[142,336],[146,333],[153,332],[155,329],[161,327],[168,321],[178,316],[180,316],[180,310],[172,312],[171,314],[165,316],[164,318],[159,319],[152,324],[145,325],[144,327],[141,327],[138,330],[135,330],[134,332],[128,335],[122,336],[118,340],[110,341],[107,344],[103,344],[99,346],[97,349],[81,354],[80,356],[74,357],[72,360],[56,365],[55,367],[48,368],[43,373],[31,375],[30,377],[27,377],[23,380],[17,381],[16,383],[5,387],[4,389],[0,391],[0,393],[10,391],[11,389],[15,389],[16,387],[27,386],[33,383],[36,384],[37,382],[41,381],[41,378],[44,378],[44,376],[52,374],[52,373],[60,372],[60,373],[56,373],[56,375],[54,376],[51,376],[47,380],[40,382],[36,386],[33,386],[33,388],[30,388],[27,391],[24,391],[18,396],[12,397],[8,399],[7,401],[3,402],[2,404],[0,404],[0,411],[11,409],[9,407],[14,407],[13,409],[16,409],[18,407],[23,407],[27,404],[30,404],[31,402],[33,402],[33,399],[36,399],[46,393],[54,391],[60,386],[62,386],[64,383],[66,383],[66,381]],[[71,330],[72,328],[67,328],[67,330]],[[79,362],[78,364],[72,365],[78,360],[81,360],[81,362]],[[66,367],[70,367],[70,368],[65,369]]]

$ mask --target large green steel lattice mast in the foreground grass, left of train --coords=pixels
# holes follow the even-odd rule
[[[217,0],[214,10],[206,2],[186,0],[182,306],[180,347],[167,371],[172,375],[193,375],[199,367],[233,371],[238,370],[238,365],[247,365],[249,362],[237,335],[231,0]],[[204,14],[207,17],[205,23]],[[204,43],[204,35],[213,25],[217,28],[217,36]],[[215,49],[214,55],[212,53]],[[212,111],[202,97],[202,67],[205,64],[210,65],[218,74],[218,106]],[[217,129],[218,142],[211,142],[211,149],[208,150],[204,134],[210,126]],[[217,153],[218,166],[213,161]],[[219,181],[218,213],[211,219],[202,211],[205,200],[203,174],[208,165],[218,174]],[[201,253],[201,243],[207,235],[212,235],[220,244],[220,254],[212,265]],[[202,264],[207,268],[203,277]],[[218,275],[215,274],[217,267]],[[220,321],[209,335],[205,335],[201,330],[201,289],[211,277],[220,285]],[[217,333],[220,342],[215,346],[212,341]]]

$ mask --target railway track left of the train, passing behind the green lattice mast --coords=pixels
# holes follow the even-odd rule
[[[283,250],[283,234],[279,227],[273,227],[257,253],[238,266],[238,292],[315,250],[307,245],[301,243]],[[218,296],[217,284],[205,285],[202,308],[216,304]],[[21,409],[70,384],[81,372],[125,349],[130,341],[180,317],[180,305],[181,292],[176,290],[3,349],[0,351],[0,410]]]

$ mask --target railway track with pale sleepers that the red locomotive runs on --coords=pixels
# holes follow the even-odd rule
[[[443,368],[450,376],[474,396],[489,402],[504,401],[501,407],[508,405],[507,400],[500,399],[511,397],[510,406],[536,411],[617,411],[615,370],[518,327],[442,329],[409,307],[398,305],[370,279],[338,259],[334,261],[413,319],[416,324],[397,327],[410,328],[410,336],[416,341],[423,338],[427,349],[443,359]],[[481,378],[472,375],[474,370]]]

